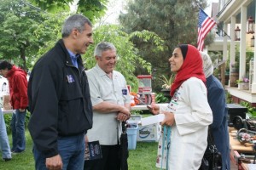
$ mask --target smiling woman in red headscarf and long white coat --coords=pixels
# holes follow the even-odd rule
[[[169,150],[166,156],[159,150],[156,166],[161,167],[161,162],[166,161],[164,166],[169,169],[197,170],[207,149],[208,125],[212,123],[201,55],[194,46],[182,44],[173,50],[169,62],[171,71],[177,73],[171,88],[172,100],[167,107],[151,105],[150,109],[154,114],[165,115],[161,125],[170,132],[166,146],[161,145],[165,141],[159,145],[160,150]]]

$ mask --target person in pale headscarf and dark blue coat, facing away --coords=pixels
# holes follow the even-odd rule
[[[222,156],[222,169],[230,170],[230,137],[224,88],[218,78],[212,75],[213,65],[210,56],[204,52],[200,53],[203,59],[203,70],[207,77],[207,99],[213,116],[210,130],[212,131],[214,143]]]

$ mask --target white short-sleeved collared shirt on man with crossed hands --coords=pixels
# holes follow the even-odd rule
[[[126,86],[125,77],[118,71],[113,71],[113,78],[96,65],[86,71],[90,86],[90,99],[92,105],[99,105],[102,101],[117,105],[130,104],[130,94]],[[93,127],[88,130],[89,141],[99,140],[100,144],[118,144],[121,134],[121,123],[116,119],[117,111],[108,114],[93,111]]]

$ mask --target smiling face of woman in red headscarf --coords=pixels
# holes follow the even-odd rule
[[[180,48],[175,48],[172,52],[172,57],[169,59],[171,71],[177,72],[183,65],[183,54]]]

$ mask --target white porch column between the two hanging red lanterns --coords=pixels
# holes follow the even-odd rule
[[[239,56],[239,79],[246,76],[246,50],[247,50],[247,7],[241,7],[241,38]]]

